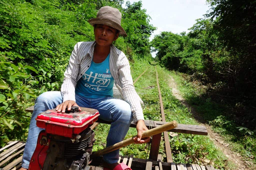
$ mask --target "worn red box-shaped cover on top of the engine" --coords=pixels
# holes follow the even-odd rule
[[[81,112],[57,113],[55,109],[40,113],[36,118],[36,125],[46,129],[46,133],[72,138],[81,133],[88,125],[98,120],[99,111],[83,108]]]

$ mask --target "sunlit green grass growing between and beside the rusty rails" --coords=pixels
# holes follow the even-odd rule
[[[176,120],[178,123],[183,124],[198,124],[193,115],[188,111],[188,108],[173,96],[171,89],[169,88],[167,79],[169,79],[169,75],[173,73],[159,66],[156,67],[166,121]],[[142,60],[135,60],[131,63],[131,73],[134,80],[144,72],[146,68],[148,68],[147,72],[141,76],[134,86],[138,95],[144,101],[143,113],[145,119],[160,121],[161,113],[156,85],[155,66],[149,65],[147,61]],[[182,79],[179,79],[178,81],[182,82]],[[96,142],[93,146],[93,151],[104,147],[108,129],[109,125],[105,124],[100,124],[96,128]],[[136,134],[136,129],[130,128],[125,138],[129,138]],[[226,161],[226,156],[214,146],[214,143],[207,136],[177,134],[175,137],[169,136],[169,140],[172,148],[173,160],[176,163],[211,164],[218,169],[233,169],[234,167],[234,165]],[[147,148],[144,147],[145,144],[132,144],[121,148],[120,154],[133,154],[136,158],[146,159],[148,158]],[[162,154],[164,161],[166,161],[163,140],[159,148],[159,153]]]

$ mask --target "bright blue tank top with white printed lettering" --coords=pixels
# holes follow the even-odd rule
[[[114,79],[109,71],[109,55],[101,63],[92,61],[78,80],[76,94],[86,98],[113,97]]]

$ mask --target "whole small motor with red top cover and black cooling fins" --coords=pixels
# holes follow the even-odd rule
[[[94,132],[88,127],[98,120],[95,109],[72,107],[57,113],[55,109],[40,113],[38,127],[44,128],[30,160],[29,170],[89,170]]]

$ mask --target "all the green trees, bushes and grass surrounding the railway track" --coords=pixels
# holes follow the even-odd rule
[[[245,160],[256,163],[256,2],[207,2],[211,10],[206,18],[196,20],[189,33],[162,32],[149,42],[156,28],[149,24],[150,16],[141,9],[141,2],[127,2],[122,8],[122,0],[0,1],[0,146],[10,140],[26,140],[31,114],[25,108],[44,91],[60,89],[73,46],[94,40],[87,20],[109,5],[123,15],[128,36],[119,37],[114,45],[127,55],[134,80],[149,68],[135,84],[145,103],[145,119],[161,120],[155,66],[151,65],[153,47],[159,65],[177,71],[156,66],[166,120],[198,124],[172,95],[166,80],[171,74],[202,119]],[[104,147],[108,129],[109,125],[97,127],[94,150]],[[126,137],[135,134],[136,129],[131,128]],[[210,161],[220,169],[234,166],[208,137],[178,134],[170,142],[175,162]],[[146,158],[147,148],[130,145],[121,153]],[[163,143],[159,153],[165,159]]]

